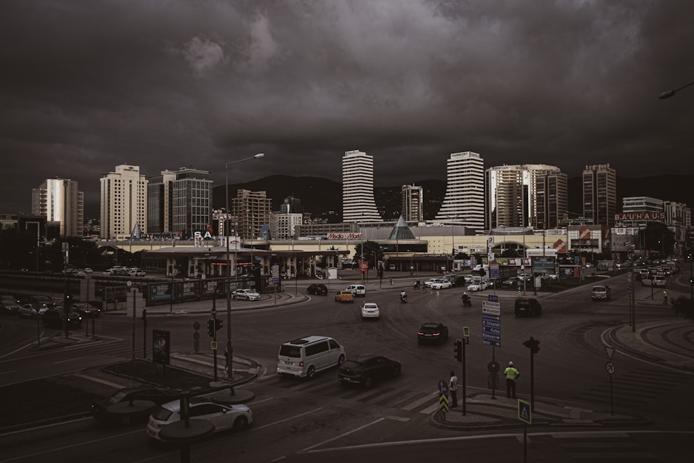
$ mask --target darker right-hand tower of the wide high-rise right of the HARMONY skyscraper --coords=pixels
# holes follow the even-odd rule
[[[557,228],[568,210],[568,178],[564,172],[547,171],[535,179],[534,226]]]

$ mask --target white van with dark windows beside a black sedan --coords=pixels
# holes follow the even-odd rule
[[[313,378],[316,371],[341,365],[345,361],[345,348],[332,337],[307,336],[280,346],[277,373],[299,378]]]

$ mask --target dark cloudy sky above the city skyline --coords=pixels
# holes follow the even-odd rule
[[[569,176],[691,173],[691,0],[0,2],[0,213],[46,178],[194,166],[224,182],[340,180],[344,151],[375,183],[486,167]],[[683,169],[684,168],[684,169]],[[307,199],[304,199],[307,201]]]

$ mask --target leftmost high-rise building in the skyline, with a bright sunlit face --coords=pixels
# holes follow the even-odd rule
[[[31,213],[60,223],[61,236],[82,236],[84,194],[76,180],[49,178],[31,190]]]

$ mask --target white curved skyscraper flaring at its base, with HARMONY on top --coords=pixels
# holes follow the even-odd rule
[[[484,230],[484,159],[472,151],[446,161],[446,196],[435,221]]]

